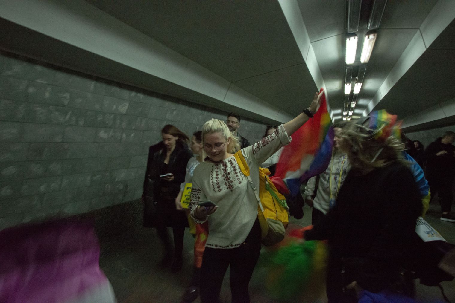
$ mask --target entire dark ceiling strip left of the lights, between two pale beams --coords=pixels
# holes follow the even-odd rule
[[[278,1],[87,2],[292,116],[318,90]]]

